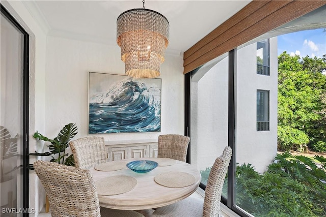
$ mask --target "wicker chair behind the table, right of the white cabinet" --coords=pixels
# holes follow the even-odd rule
[[[185,162],[190,138],[177,134],[158,136],[158,158],[172,158]]]

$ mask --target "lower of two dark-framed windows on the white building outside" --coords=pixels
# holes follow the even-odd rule
[[[257,131],[269,131],[269,90],[257,89]]]

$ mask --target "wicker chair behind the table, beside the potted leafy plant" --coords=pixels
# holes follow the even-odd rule
[[[106,148],[103,137],[84,137],[70,141],[69,145],[75,167],[89,169],[106,162]]]

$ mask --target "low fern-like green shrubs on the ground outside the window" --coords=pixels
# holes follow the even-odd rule
[[[325,162],[321,156],[315,156]],[[326,216],[326,173],[305,156],[277,154],[262,174],[237,165],[236,205],[254,216]],[[227,178],[223,196],[227,196]]]

